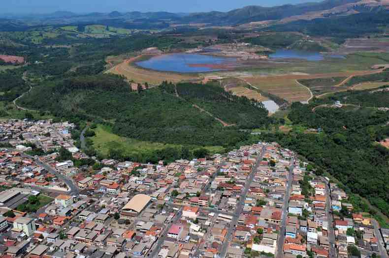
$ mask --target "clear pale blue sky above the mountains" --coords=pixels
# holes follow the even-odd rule
[[[2,0],[0,13],[49,13],[55,11],[110,12],[228,11],[246,5],[274,6],[318,0]]]

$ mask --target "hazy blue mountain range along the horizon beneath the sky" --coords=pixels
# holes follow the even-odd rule
[[[76,14],[58,11],[51,14],[0,16],[2,23],[26,23],[29,25],[62,25],[76,23],[167,23],[169,25],[207,24],[213,26],[237,26],[271,21],[288,23],[334,16],[389,11],[389,0],[324,0],[302,4],[285,4],[274,7],[246,6],[229,12],[169,13],[169,12],[119,12]]]

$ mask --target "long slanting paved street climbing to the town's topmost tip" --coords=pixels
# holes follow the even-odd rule
[[[238,222],[239,215],[243,211],[244,200],[246,199],[246,195],[249,192],[250,184],[253,182],[255,172],[257,171],[257,168],[258,168],[259,163],[261,162],[261,160],[263,158],[263,155],[265,154],[265,151],[266,151],[266,147],[263,147],[259,157],[257,158],[257,162],[256,162],[255,166],[253,167],[253,170],[250,173],[249,178],[245,184],[245,187],[244,187],[243,192],[240,196],[239,202],[236,205],[235,214],[232,217],[232,221],[229,225],[229,229],[228,229],[228,232],[226,234],[226,239],[224,240],[222,248],[220,250],[220,257],[221,258],[226,257],[228,244],[232,239],[232,232],[235,230],[235,225]]]

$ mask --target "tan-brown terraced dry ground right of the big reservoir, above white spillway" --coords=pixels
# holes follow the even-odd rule
[[[311,97],[310,91],[296,83],[296,79],[301,77],[294,75],[266,76],[246,78],[245,80],[260,90],[279,96],[289,102],[307,101]]]

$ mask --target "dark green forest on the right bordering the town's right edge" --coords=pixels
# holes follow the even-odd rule
[[[357,107],[320,108],[312,112],[313,107],[333,103],[346,94],[348,100],[356,95],[366,104],[371,96],[369,91],[349,92],[335,94],[326,100],[314,99],[309,105],[293,103],[288,115],[293,124],[321,129],[322,133],[279,132],[265,133],[261,137],[265,141],[279,142],[306,157],[341,181],[349,191],[367,198],[389,215],[389,149],[377,143],[389,137],[389,113]],[[382,104],[388,107],[389,93],[379,94]]]

